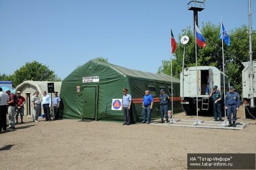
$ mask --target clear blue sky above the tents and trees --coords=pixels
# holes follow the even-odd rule
[[[185,0],[0,0],[0,74],[37,60],[64,79],[96,57],[115,65],[156,72],[170,58],[169,28],[178,41],[193,25]],[[252,28],[256,2],[252,1]],[[248,25],[247,0],[206,0],[202,22],[225,29]],[[231,40],[232,43],[232,40]]]

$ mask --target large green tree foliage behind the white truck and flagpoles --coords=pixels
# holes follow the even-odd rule
[[[215,66],[223,71],[222,65],[222,42],[219,39],[220,25],[216,26],[207,22],[200,28],[205,40],[207,42],[205,48],[197,46],[197,65]],[[248,28],[241,26],[228,32],[230,37],[230,46],[224,42],[224,63],[225,74],[229,77],[230,85],[236,86],[236,91],[242,91],[242,62],[248,61],[249,57],[249,36]],[[186,30],[182,30],[178,39],[186,34]],[[195,55],[195,36],[191,28],[187,30],[189,42],[185,45],[185,59],[184,68],[196,65]],[[252,51],[256,51],[256,32],[252,33]],[[173,76],[179,78],[182,71],[182,60],[184,46],[177,41],[177,49],[173,62]],[[255,55],[254,55],[255,56]],[[256,58],[256,57],[254,57]],[[162,60],[162,65],[157,70],[158,73],[165,73],[170,75],[170,60]]]

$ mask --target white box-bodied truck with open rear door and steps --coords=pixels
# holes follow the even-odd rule
[[[183,78],[184,73],[184,78]],[[198,76],[197,76],[198,75]],[[218,90],[222,92],[224,97],[224,83],[223,76],[225,76],[225,92],[229,91],[228,77],[222,71],[212,66],[198,66],[188,67],[180,74],[180,94],[181,105],[186,115],[193,115],[197,113],[197,95],[198,95],[198,109],[208,111],[212,114],[212,100],[209,98],[210,91],[214,85],[218,86]],[[198,86],[197,86],[198,85]],[[207,91],[207,85],[209,90]],[[224,98],[223,98],[224,99]],[[222,100],[224,103],[224,100]],[[224,106],[222,105],[223,109]],[[224,111],[223,111],[224,113]]]

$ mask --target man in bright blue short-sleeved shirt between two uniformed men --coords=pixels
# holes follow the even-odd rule
[[[146,123],[146,114],[147,114],[147,124],[151,123],[151,110],[153,108],[154,98],[150,94],[150,91],[145,90],[145,95],[143,97],[142,103],[142,124]]]

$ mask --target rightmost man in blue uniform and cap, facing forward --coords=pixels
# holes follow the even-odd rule
[[[230,91],[226,93],[225,96],[225,109],[227,109],[227,119],[228,119],[228,127],[236,127],[236,121],[237,121],[237,110],[240,106],[240,98],[239,94],[234,91],[234,87],[230,86]],[[231,115],[233,114],[233,118],[231,119]],[[231,122],[233,120],[233,124]]]

